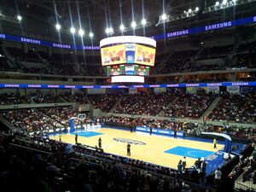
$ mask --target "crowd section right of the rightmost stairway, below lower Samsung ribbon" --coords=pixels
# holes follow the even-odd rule
[[[256,97],[253,94],[236,95],[225,93],[209,114],[208,119],[236,123],[255,123]]]

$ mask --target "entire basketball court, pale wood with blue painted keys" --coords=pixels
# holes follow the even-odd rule
[[[223,144],[218,144],[217,148],[213,148],[212,141],[206,139],[150,136],[148,133],[112,128],[66,133],[61,135],[61,141],[74,144],[75,133],[79,136],[79,143],[93,147],[98,146],[98,138],[101,137],[104,152],[125,157],[126,145],[131,143],[131,157],[129,158],[173,169],[177,169],[177,163],[183,159],[183,156],[186,156],[187,166],[190,167],[195,164],[197,158],[203,157],[207,160],[209,157],[216,157],[216,154],[219,154],[218,151],[224,148]],[[50,138],[59,140],[59,135],[54,135]]]

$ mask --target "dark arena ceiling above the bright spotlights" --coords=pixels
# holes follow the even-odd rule
[[[146,30],[146,36],[161,33],[163,25],[155,26],[155,24],[163,12],[168,15],[178,15],[184,10],[195,9],[195,7],[203,10],[215,2],[216,0],[0,0],[0,9],[6,15],[20,13],[27,19],[40,22],[43,26],[42,29],[34,27],[39,32],[43,32],[46,27],[49,28],[47,32],[55,32],[55,23],[58,20],[61,28],[67,29],[67,31],[73,23],[76,28],[81,25],[85,32],[94,32],[96,38],[104,38],[106,37],[106,27],[113,26],[115,35],[118,35],[120,33],[119,25],[122,21],[125,26],[130,27],[132,20],[140,22],[143,15],[152,23]],[[256,6],[255,3],[252,3],[246,9],[242,7],[236,9],[235,12],[231,11],[232,15],[224,11],[201,15],[201,11],[199,11],[193,18],[166,23],[165,30],[173,26],[182,28],[194,23],[199,25],[201,21],[236,17],[239,14],[250,15],[252,13],[255,15]],[[131,34],[131,32],[132,29],[127,34]],[[139,35],[142,32],[143,29],[137,30]]]

